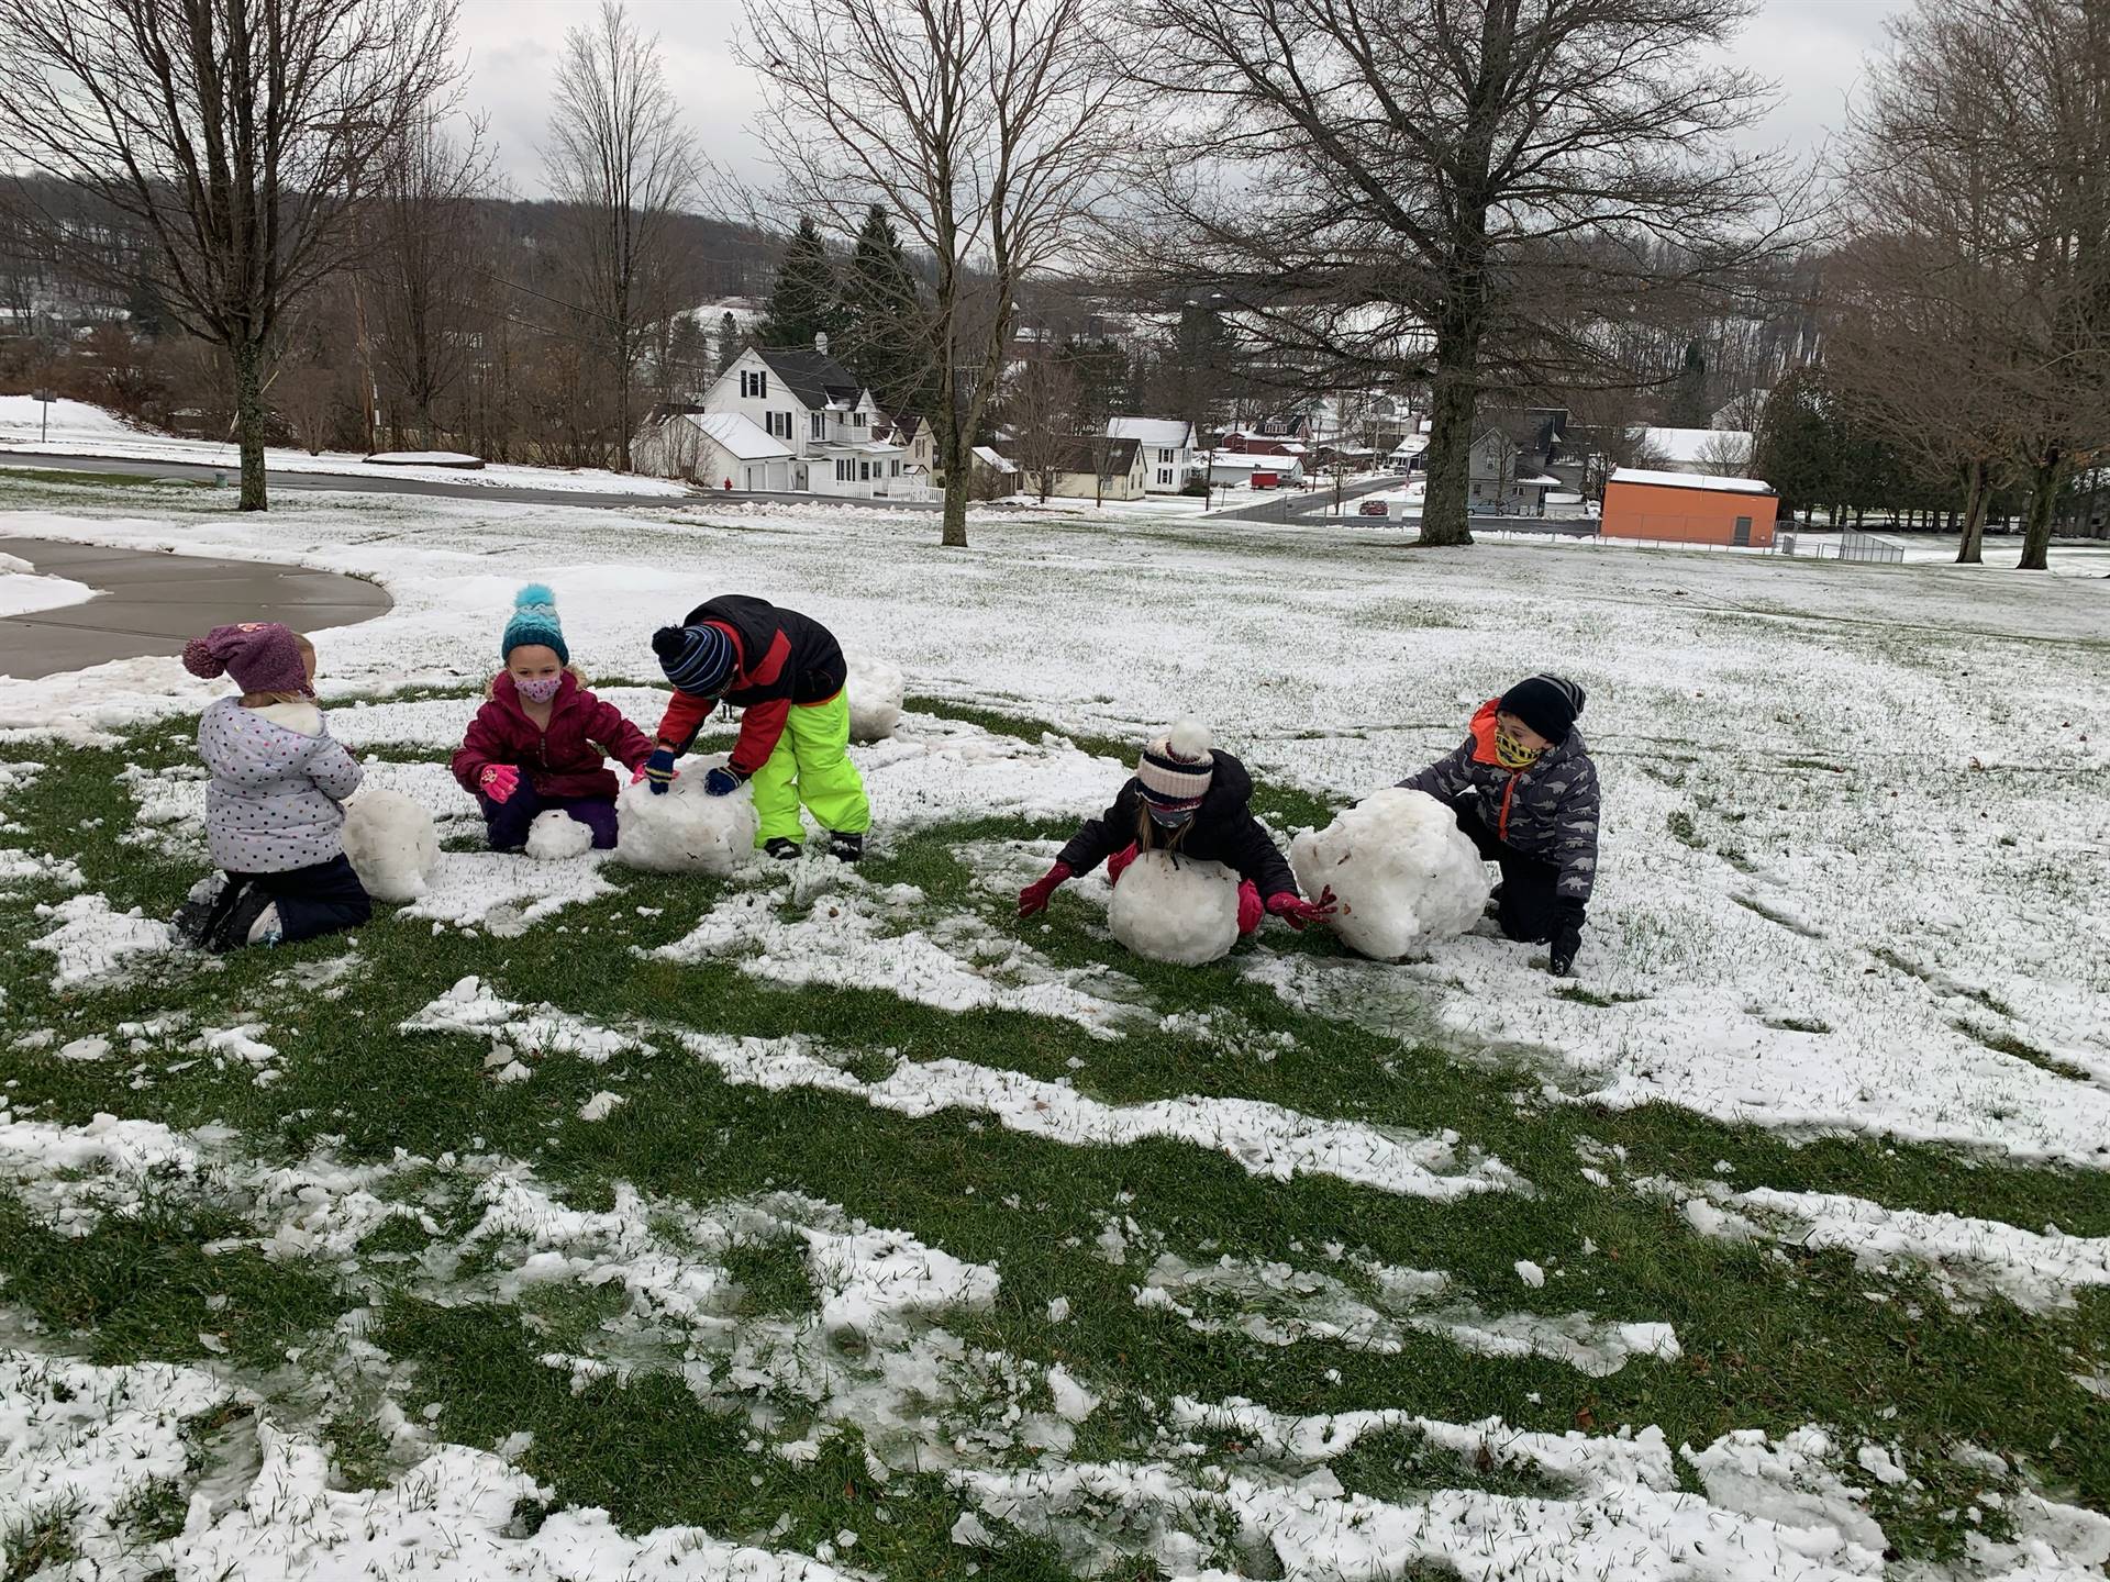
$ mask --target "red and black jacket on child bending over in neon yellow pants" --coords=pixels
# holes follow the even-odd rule
[[[732,745],[732,768],[741,774],[770,761],[793,705],[827,702],[848,677],[836,633],[768,599],[722,593],[690,610],[682,624],[717,626],[732,639],[732,681],[724,702],[741,711],[741,738]],[[720,698],[675,692],[658,738],[686,753],[717,705]]]

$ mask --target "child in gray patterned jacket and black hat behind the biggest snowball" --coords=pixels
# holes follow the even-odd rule
[[[1597,880],[1597,766],[1576,730],[1585,692],[1532,675],[1473,715],[1458,751],[1399,785],[1450,804],[1479,854],[1500,863],[1496,922],[1549,941],[1553,977],[1574,972]]]

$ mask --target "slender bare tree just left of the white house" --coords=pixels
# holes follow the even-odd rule
[[[631,468],[631,386],[682,306],[677,213],[696,194],[696,148],[644,36],[618,0],[565,34],[542,167],[572,209],[563,270],[614,382],[616,460]]]

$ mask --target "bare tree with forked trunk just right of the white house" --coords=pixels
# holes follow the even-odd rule
[[[747,0],[741,51],[789,207],[848,238],[878,202],[933,262],[920,335],[947,546],[966,544],[968,454],[1019,287],[1114,186],[1108,21],[1101,0]]]

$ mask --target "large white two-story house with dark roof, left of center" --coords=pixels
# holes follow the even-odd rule
[[[698,416],[711,424],[690,428],[717,447],[711,451],[717,472],[698,462],[698,483],[724,485],[730,477],[734,487],[749,487],[747,468],[755,468],[753,475],[768,481],[753,487],[848,498],[920,496],[924,489],[905,460],[907,447],[874,437],[874,426],[884,430],[886,418],[857,375],[827,354],[825,335],[814,337],[812,350],[749,346],[705,392]],[[656,422],[654,430],[667,430],[677,418]],[[679,466],[688,445],[682,428],[660,439],[648,432],[633,456],[644,451],[652,470],[660,470]],[[741,470],[728,470],[730,464]]]

